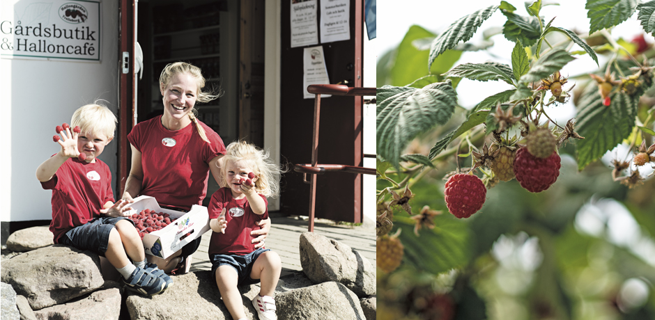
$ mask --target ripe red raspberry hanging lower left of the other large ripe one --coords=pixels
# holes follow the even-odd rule
[[[475,214],[486,200],[486,188],[482,180],[464,173],[448,179],[444,194],[448,211],[457,218],[468,218]]]

